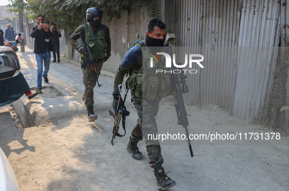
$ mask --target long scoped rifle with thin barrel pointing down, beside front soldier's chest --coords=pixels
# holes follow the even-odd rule
[[[173,58],[172,48],[168,47],[168,44],[166,44],[166,48],[167,48],[168,54],[170,54],[171,58]],[[180,65],[180,63],[178,63],[178,65]],[[176,70],[177,68],[175,65],[173,65],[172,69]],[[172,92],[176,93],[175,97],[176,97],[177,103],[178,103],[175,105],[177,116],[178,116],[177,124],[182,125],[186,130],[186,135],[187,135],[187,140],[188,140],[188,144],[189,144],[189,148],[190,148],[191,157],[193,157],[194,154],[193,154],[192,145],[191,145],[191,141],[189,139],[189,132],[188,132],[188,128],[187,128],[187,126],[189,125],[189,121],[188,121],[188,117],[187,117],[186,108],[184,105],[184,100],[182,97],[182,94],[189,92],[188,86],[186,85],[185,78],[187,78],[187,75],[184,75],[183,72],[181,72],[179,74],[180,80],[178,80],[178,74],[177,73],[172,73],[171,83],[172,83],[172,90],[173,90]],[[182,85],[181,88],[180,88],[180,84]]]

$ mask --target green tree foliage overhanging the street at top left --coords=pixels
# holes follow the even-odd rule
[[[85,17],[89,7],[102,8],[109,17],[109,21],[127,11],[146,6],[152,17],[157,16],[156,0],[9,0],[13,12],[23,14],[26,9],[28,17],[35,21],[39,14],[44,15],[46,22],[56,22],[61,29],[74,31]]]

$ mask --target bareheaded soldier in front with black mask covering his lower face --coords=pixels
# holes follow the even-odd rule
[[[166,25],[159,19],[151,19],[148,23],[146,39],[136,40],[134,46],[126,53],[121,61],[114,76],[113,83],[113,109],[117,109],[119,99],[118,85],[122,84],[124,75],[129,72],[127,80],[128,87],[131,90],[132,101],[135,107],[138,119],[133,128],[132,135],[127,145],[127,150],[135,160],[142,158],[142,153],[137,147],[137,143],[143,140],[146,143],[147,153],[150,158],[150,166],[154,168],[156,176],[156,185],[159,190],[166,190],[176,185],[176,182],[169,178],[162,167],[163,157],[157,140],[149,140],[148,135],[157,134],[156,114],[158,112],[159,101],[162,97],[171,94],[170,85],[158,84],[158,77],[166,79],[170,84],[170,75],[154,75],[156,71],[147,70],[147,64],[151,54],[164,47]],[[161,60],[162,61],[162,60]],[[161,65],[159,62],[157,65]],[[149,73],[153,72],[153,74]],[[157,77],[157,78],[156,78]],[[146,85],[145,85],[146,84]],[[159,86],[154,87],[158,84]]]

